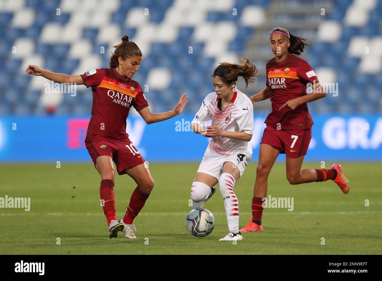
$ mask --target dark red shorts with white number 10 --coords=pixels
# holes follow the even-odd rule
[[[108,155],[117,165],[119,175],[125,174],[125,172],[123,172],[124,169],[138,166],[145,162],[141,154],[139,154],[138,149],[136,149],[129,139],[85,141],[85,146],[94,162],[94,166],[98,156]]]

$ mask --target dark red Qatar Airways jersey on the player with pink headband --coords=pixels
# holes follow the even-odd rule
[[[271,88],[272,112],[264,123],[274,128],[280,123],[281,130],[310,128],[313,120],[306,103],[300,104],[294,110],[279,108],[291,99],[306,95],[306,86],[308,83],[313,84],[313,81],[318,83],[311,66],[296,55],[288,54],[288,57],[279,63],[275,58],[267,62],[267,86]]]

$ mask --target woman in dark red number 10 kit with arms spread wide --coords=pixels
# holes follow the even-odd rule
[[[131,80],[139,70],[142,52],[128,36],[114,46],[116,49],[110,58],[110,68],[87,71],[82,75],[66,75],[42,70],[36,65],[29,65],[27,74],[43,76],[58,83],[85,84],[92,87],[92,116],[87,128],[85,144],[93,159],[94,166],[101,175],[100,197],[108,223],[108,235],[117,238],[118,231],[123,231],[126,238],[135,239],[133,232],[134,218],[144,206],[154,187],[154,181],[145,160],[129,140],[126,133],[126,118],[133,106],[147,124],[170,119],[180,114],[186,103],[183,94],[175,109],[154,114],[138,82]],[[138,185],[131,195],[125,216],[116,218],[114,199],[114,165],[119,175],[128,174]]]

